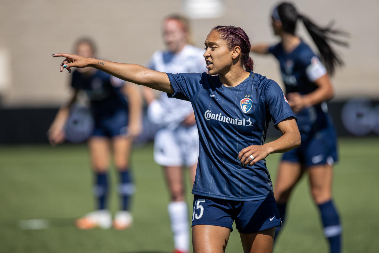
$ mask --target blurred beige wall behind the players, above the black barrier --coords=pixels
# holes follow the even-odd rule
[[[197,3],[196,3],[197,2]],[[70,74],[58,71],[53,53],[72,52],[74,41],[92,37],[98,57],[119,62],[144,64],[153,51],[164,47],[161,19],[172,13],[194,15],[196,46],[203,47],[212,27],[232,24],[242,27],[253,43],[275,43],[269,27],[269,13],[277,1],[208,0],[203,9],[216,6],[219,14],[196,9],[197,0],[4,0],[0,5],[0,95],[3,107],[58,106],[69,96]],[[333,83],[336,100],[353,96],[379,97],[379,2],[363,0],[296,0],[301,13],[350,34],[349,48],[337,48],[345,67],[338,69]],[[196,5],[197,4],[197,5]],[[192,8],[192,9],[191,9]],[[197,12],[196,12],[197,11]],[[302,26],[299,34],[309,36]],[[273,57],[253,55],[255,71],[281,83]]]

